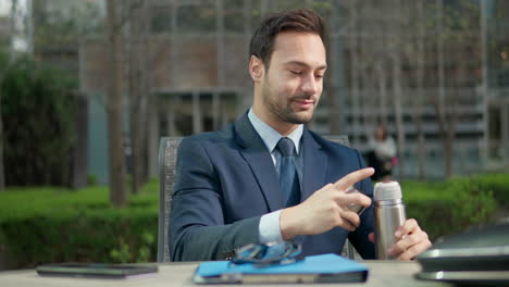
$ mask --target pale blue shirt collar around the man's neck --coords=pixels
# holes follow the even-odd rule
[[[258,117],[253,112],[252,108],[249,109],[248,113],[249,121],[251,122],[254,130],[262,138],[266,148],[270,152],[274,151],[275,146],[283,137],[277,130],[272,128],[270,125],[265,124],[260,117]],[[300,138],[302,138],[303,125],[300,124],[294,132],[291,132],[287,137],[294,141],[295,150],[299,154]]]

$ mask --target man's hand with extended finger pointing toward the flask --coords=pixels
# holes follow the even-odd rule
[[[360,192],[347,194],[346,190],[373,173],[372,167],[352,172],[316,190],[302,203],[284,209],[280,216],[283,239],[289,240],[297,235],[322,234],[337,226],[355,230],[360,224],[360,219],[348,205],[368,208],[371,205],[371,199]]]

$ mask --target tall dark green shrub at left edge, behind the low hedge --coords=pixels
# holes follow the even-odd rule
[[[69,186],[75,138],[71,90],[76,80],[27,57],[17,59],[2,76],[7,185]]]

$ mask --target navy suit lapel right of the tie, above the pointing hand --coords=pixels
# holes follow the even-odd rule
[[[325,185],[325,173],[327,171],[327,157],[322,147],[314,140],[311,133],[305,128],[302,134],[303,148],[303,180],[301,201],[305,201],[314,191]]]

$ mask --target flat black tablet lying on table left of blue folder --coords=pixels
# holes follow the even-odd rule
[[[157,265],[58,263],[37,266],[41,276],[126,278],[158,272]]]

